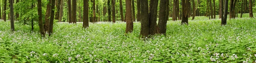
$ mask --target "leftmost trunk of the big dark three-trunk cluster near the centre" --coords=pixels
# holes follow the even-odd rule
[[[152,0],[151,0],[152,1]],[[141,28],[140,35],[143,37],[148,37],[149,35],[149,16],[148,16],[148,0],[140,0],[141,9]]]

